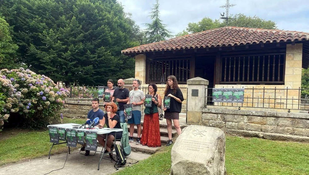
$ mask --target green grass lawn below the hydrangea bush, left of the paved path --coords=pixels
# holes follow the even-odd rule
[[[63,123],[82,124],[85,119],[64,118]],[[0,139],[0,166],[6,163],[23,161],[35,157],[47,156],[50,146],[48,130],[4,130],[6,136]],[[17,133],[18,132],[18,133]],[[74,149],[74,148],[73,148]],[[65,144],[56,145],[51,153],[60,153],[67,151]]]

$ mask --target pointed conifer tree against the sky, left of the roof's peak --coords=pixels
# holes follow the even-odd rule
[[[146,43],[154,43],[166,40],[172,37],[171,32],[166,29],[166,25],[160,19],[159,0],[156,0],[149,17],[152,19],[151,23],[145,24],[147,29],[145,31]]]

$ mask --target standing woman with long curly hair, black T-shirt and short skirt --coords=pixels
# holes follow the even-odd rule
[[[170,97],[170,109],[162,108],[164,113],[164,118],[167,123],[167,133],[169,141],[166,146],[173,144],[172,141],[172,120],[177,131],[177,134],[181,134],[181,128],[179,125],[179,113],[181,112],[181,103],[184,100],[182,92],[178,87],[178,82],[175,76],[171,75],[167,77],[166,87],[164,91],[165,97]]]

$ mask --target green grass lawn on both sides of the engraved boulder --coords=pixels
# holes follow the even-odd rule
[[[170,150],[165,147],[115,175],[169,174]],[[305,175],[309,174],[309,144],[227,136],[225,163],[228,175]]]

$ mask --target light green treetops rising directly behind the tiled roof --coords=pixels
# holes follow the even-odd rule
[[[276,23],[274,21],[261,19],[257,16],[246,16],[244,14],[236,14],[233,19],[228,20],[228,26],[234,27],[248,27],[248,28],[261,28],[261,29],[277,29]],[[202,32],[209,29],[216,29],[219,27],[226,26],[225,21],[220,21],[218,19],[212,20],[210,18],[203,18],[197,23],[189,23],[186,28],[188,33]],[[186,33],[184,31],[176,34],[176,36],[183,36]]]

